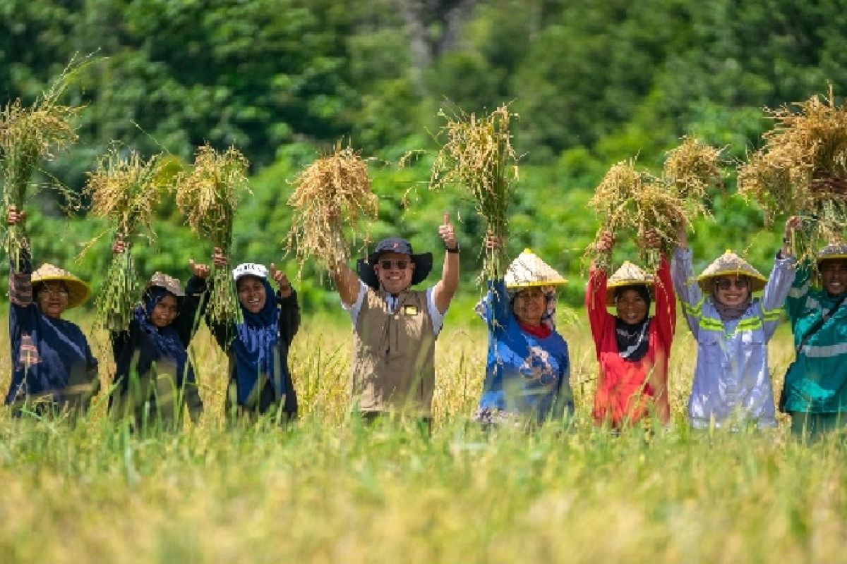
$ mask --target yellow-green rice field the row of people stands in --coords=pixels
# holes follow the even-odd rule
[[[207,406],[196,427],[130,435],[104,418],[102,402],[76,423],[3,411],[3,562],[847,561],[841,437],[805,445],[784,422],[691,432],[684,405],[695,348],[684,324],[668,430],[591,427],[596,369],[578,317],[560,324],[573,424],[484,435],[468,416],[486,334],[458,315],[438,342],[429,440],[346,417],[350,328],[329,316],[307,319],[296,337],[302,418],[289,430],[224,425],[225,359],[205,330],[194,343]],[[791,350],[785,329],[771,344],[779,381]],[[95,336],[108,359],[105,333]]]

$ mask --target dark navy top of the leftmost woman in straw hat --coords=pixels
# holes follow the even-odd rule
[[[6,404],[27,396],[50,395],[69,401],[80,389],[97,383],[97,359],[86,336],[70,321],[47,317],[33,300],[30,257],[21,253],[21,271],[9,271],[8,334],[12,383]]]

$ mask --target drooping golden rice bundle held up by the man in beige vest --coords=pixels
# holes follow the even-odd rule
[[[297,175],[294,194],[288,205],[295,209],[288,233],[288,249],[296,249],[302,266],[311,256],[329,269],[350,259],[344,227],[352,227],[356,243],[357,226],[363,222],[368,240],[369,225],[377,220],[379,200],[371,191],[368,164],[351,147],[335,146]]]

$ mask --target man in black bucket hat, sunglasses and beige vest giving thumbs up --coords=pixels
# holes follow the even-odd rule
[[[403,238],[377,244],[367,260],[331,271],[341,305],[350,314],[354,342],[354,408],[367,420],[409,415],[429,425],[435,390],[435,338],[459,285],[459,248],[450,216],[438,229],[446,255],[441,279],[425,290],[432,254],[415,254]]]

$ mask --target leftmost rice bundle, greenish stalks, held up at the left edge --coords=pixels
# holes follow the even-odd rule
[[[69,85],[75,70],[73,63],[59,75],[50,90],[39,97],[32,107],[23,107],[19,100],[6,104],[0,111],[0,154],[3,163],[3,216],[8,206],[24,209],[26,192],[32,173],[42,160],[51,160],[57,151],[75,142],[77,135],[71,120],[79,107],[63,106],[58,99]],[[6,226],[3,246],[15,264],[19,262],[22,227]]]

